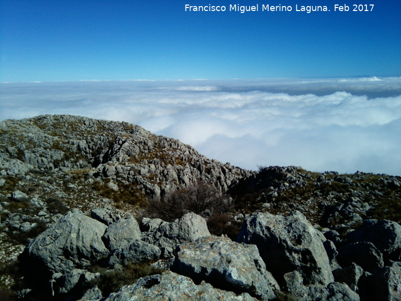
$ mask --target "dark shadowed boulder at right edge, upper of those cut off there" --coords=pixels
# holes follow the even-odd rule
[[[368,241],[385,256],[397,260],[401,255],[401,226],[388,220],[364,220],[348,233],[347,243]]]

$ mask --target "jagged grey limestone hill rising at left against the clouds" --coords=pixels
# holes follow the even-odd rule
[[[19,135],[12,134],[16,131]],[[95,168],[98,177],[131,183],[152,198],[196,181],[226,191],[251,174],[229,163],[209,160],[176,139],[156,136],[126,122],[42,115],[4,120],[0,132],[0,168],[9,174]]]

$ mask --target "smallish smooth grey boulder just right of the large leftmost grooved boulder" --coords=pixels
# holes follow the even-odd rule
[[[137,221],[131,216],[111,224],[102,237],[110,251],[123,249],[135,240],[141,240],[141,231]]]

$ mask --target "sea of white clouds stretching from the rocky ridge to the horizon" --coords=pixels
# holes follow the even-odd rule
[[[0,83],[0,121],[127,121],[256,170],[401,175],[401,77]]]

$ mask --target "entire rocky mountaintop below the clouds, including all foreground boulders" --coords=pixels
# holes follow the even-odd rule
[[[401,177],[249,171],[126,122],[5,120],[0,258],[0,301],[399,301]]]

